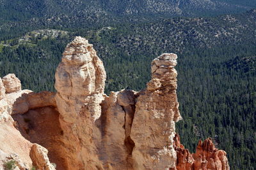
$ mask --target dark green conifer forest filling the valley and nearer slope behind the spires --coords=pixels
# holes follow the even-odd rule
[[[182,143],[195,152],[199,139],[211,137],[227,152],[231,169],[256,169],[256,10],[76,27],[35,20],[1,25],[1,77],[15,73],[23,89],[54,91],[61,53],[79,35],[104,62],[107,94],[141,90],[150,80],[151,60],[177,53]]]

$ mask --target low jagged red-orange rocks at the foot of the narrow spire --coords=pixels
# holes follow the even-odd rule
[[[173,138],[174,149],[177,152],[176,169],[177,170],[229,170],[227,153],[223,150],[218,150],[212,143],[211,138],[201,140],[196,147],[196,153],[190,153],[180,144],[178,134]],[[174,170],[174,169],[173,169]]]

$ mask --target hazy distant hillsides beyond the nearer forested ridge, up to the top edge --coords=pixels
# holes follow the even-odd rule
[[[77,29],[241,13],[256,8],[252,0],[1,0],[0,34],[6,39],[35,29]]]

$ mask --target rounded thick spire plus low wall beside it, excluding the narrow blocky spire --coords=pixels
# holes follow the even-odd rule
[[[132,166],[129,136],[136,92],[108,97],[105,80],[102,61],[86,39],[77,37],[67,45],[55,83],[67,169]]]

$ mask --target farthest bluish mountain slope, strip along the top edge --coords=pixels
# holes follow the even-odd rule
[[[236,0],[1,0],[2,20],[27,20],[29,18],[111,15],[117,16],[193,16],[217,15],[234,11],[250,10],[256,2]]]

